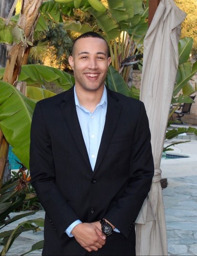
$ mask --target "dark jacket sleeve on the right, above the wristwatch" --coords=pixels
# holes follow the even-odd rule
[[[131,145],[130,177],[118,201],[105,218],[128,237],[151,187],[154,162],[150,144],[150,130],[144,104],[141,103],[138,123]]]

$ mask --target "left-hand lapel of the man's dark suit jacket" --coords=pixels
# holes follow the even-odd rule
[[[60,104],[62,114],[68,124],[69,131],[78,147],[82,157],[86,161],[87,165],[91,170],[91,165],[89,162],[89,156],[86,149],[86,145],[83,139],[83,134],[81,132],[79,119],[77,116],[75,99],[74,99],[74,86],[65,93],[63,100]],[[72,147],[72,145],[70,145]]]

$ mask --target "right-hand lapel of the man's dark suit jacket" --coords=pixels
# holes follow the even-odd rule
[[[114,134],[115,128],[117,126],[118,118],[121,113],[121,104],[118,102],[118,98],[113,94],[113,92],[108,91],[108,108],[106,113],[105,126],[100,142],[99,152],[97,156],[97,161],[94,168],[94,173],[98,170],[99,165],[105,156],[108,149],[108,145]]]

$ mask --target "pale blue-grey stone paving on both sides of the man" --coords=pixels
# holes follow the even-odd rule
[[[189,158],[161,161],[162,178],[167,178],[168,182],[163,190],[168,255],[197,255],[197,139],[195,135],[183,135],[176,141],[187,139],[192,140],[176,145],[173,152],[187,154]],[[44,217],[44,212],[39,211],[30,217]],[[7,229],[15,224],[10,224]],[[42,239],[43,229],[37,233],[25,232],[16,239],[7,256],[21,255]],[[41,256],[41,250],[29,255]]]

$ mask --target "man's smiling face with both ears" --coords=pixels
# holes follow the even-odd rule
[[[76,87],[86,91],[97,91],[102,88],[110,62],[108,46],[104,40],[94,37],[77,40],[73,55],[69,56]]]

